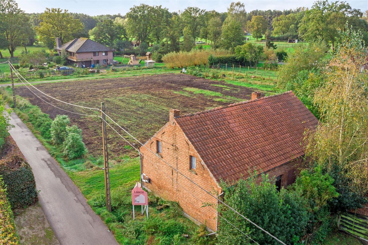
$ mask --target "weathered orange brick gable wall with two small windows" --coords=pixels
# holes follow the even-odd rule
[[[209,173],[207,166],[201,162],[194,147],[185,138],[180,127],[175,125],[175,122],[167,123],[146,142],[145,145],[153,152],[156,152],[156,140],[162,142],[162,154],[160,155],[162,159],[205,190],[215,195],[221,193],[221,189]],[[151,183],[144,182],[143,186],[163,199],[178,202],[187,215],[216,231],[217,200],[167,166],[146,148],[141,147],[140,151],[142,173],[151,179]],[[195,171],[190,170],[190,155],[197,158]],[[204,203],[214,205],[202,207]]]

